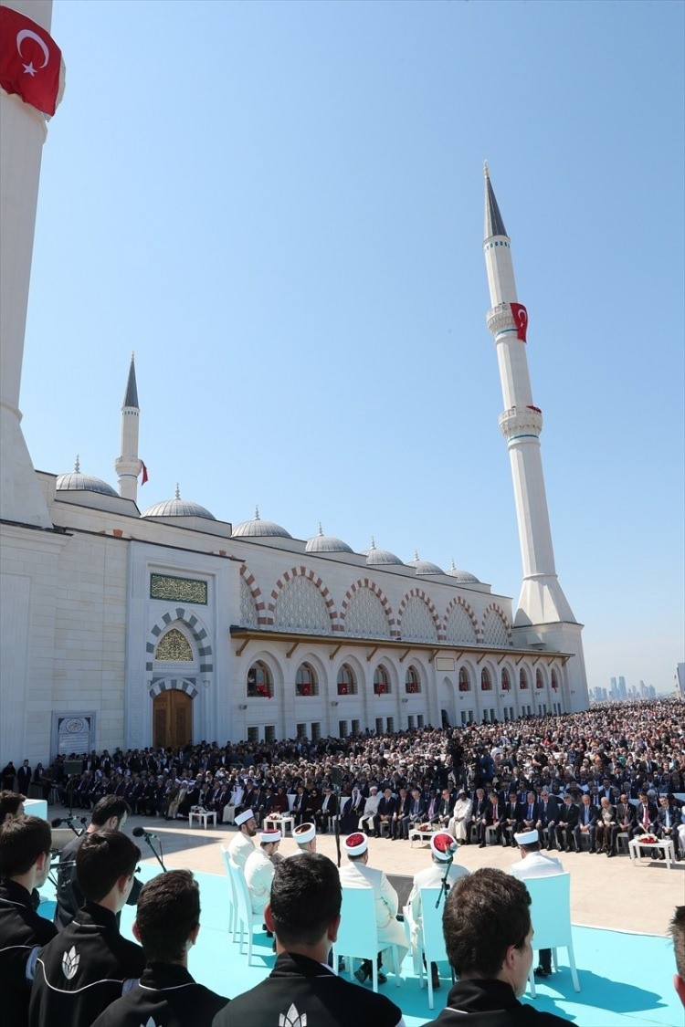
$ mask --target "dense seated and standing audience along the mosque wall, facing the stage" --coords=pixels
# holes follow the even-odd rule
[[[134,815],[188,817],[193,807],[233,824],[251,808],[258,826],[292,811],[296,824],[409,837],[443,825],[461,842],[512,844],[524,827],[548,844],[613,855],[617,835],[674,840],[685,858],[685,730],[682,703],[599,705],[563,717],[531,717],[463,728],[372,732],[348,738],[201,743],[59,756],[47,769],[1,772],[3,788],[40,789],[65,806],[90,809],[105,795]],[[65,766],[80,761],[69,776]],[[570,800],[564,797],[570,795]],[[585,810],[585,807],[589,807]],[[493,831],[489,831],[493,828]]]

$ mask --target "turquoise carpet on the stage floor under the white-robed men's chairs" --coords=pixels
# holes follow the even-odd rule
[[[149,880],[156,868],[144,864],[141,878]],[[195,980],[232,997],[259,984],[273,965],[271,942],[255,934],[254,966],[248,966],[227,930],[228,880],[214,874],[196,874],[202,901],[201,929],[191,950],[189,969]],[[41,912],[51,918],[54,889],[49,882],[42,891]],[[135,910],[126,907],[121,930],[132,937]],[[564,1017],[577,1027],[685,1027],[685,1011],[673,987],[675,962],[673,945],[667,938],[629,935],[593,927],[573,928],[573,947],[580,981],[576,994],[571,983],[565,952],[560,950],[560,969],[537,985],[534,1005]],[[421,1027],[437,1016],[447,1001],[448,983],[435,993],[435,1007],[428,1009],[425,988],[419,988],[412,974],[411,957],[404,963],[407,976],[395,988],[392,975],[382,988],[403,1010],[407,1027]],[[528,1001],[529,999],[524,999]],[[265,1025],[266,1027],[266,1025]]]

